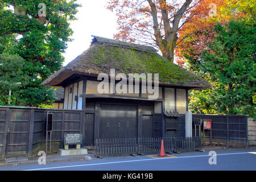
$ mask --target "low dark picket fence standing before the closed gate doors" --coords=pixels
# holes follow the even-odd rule
[[[164,150],[192,151],[201,147],[200,137],[163,138]],[[96,139],[96,155],[154,154],[160,151],[162,138]]]

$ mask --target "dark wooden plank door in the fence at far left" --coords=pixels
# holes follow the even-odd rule
[[[10,110],[9,118],[5,156],[27,156],[30,110]]]

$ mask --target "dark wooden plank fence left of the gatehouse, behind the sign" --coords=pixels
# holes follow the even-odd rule
[[[65,133],[82,133],[81,110],[0,106],[0,158],[32,156],[46,151],[47,111],[53,114],[52,151],[63,147]]]

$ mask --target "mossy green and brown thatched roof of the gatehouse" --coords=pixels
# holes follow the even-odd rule
[[[159,84],[205,88],[212,86],[194,73],[170,63],[156,49],[139,44],[93,36],[91,46],[71,63],[51,75],[42,84],[61,86],[68,77],[78,75],[110,75],[110,69],[118,73],[159,73]]]

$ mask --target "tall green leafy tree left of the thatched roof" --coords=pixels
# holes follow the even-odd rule
[[[62,53],[73,33],[69,21],[76,19],[79,6],[76,0],[0,1],[0,53],[25,60],[19,94],[24,105],[52,100],[52,91],[40,84],[62,67]]]

